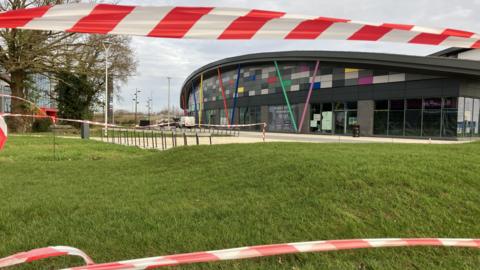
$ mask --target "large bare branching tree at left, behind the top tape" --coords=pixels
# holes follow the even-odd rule
[[[76,3],[80,0],[0,0],[0,11],[32,8],[51,4]],[[12,95],[26,98],[29,75],[41,73],[55,77],[62,72],[86,75],[101,91],[105,83],[105,53],[102,43],[112,44],[109,70],[117,83],[126,82],[136,70],[130,38],[108,35],[85,35],[54,31],[21,29],[0,30],[0,80],[6,82]],[[12,100],[13,113],[26,113],[27,108]],[[24,120],[15,119],[14,131],[25,131]]]

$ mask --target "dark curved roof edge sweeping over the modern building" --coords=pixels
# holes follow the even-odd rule
[[[234,68],[238,64],[259,64],[277,61],[316,61],[355,64],[363,68],[401,69],[406,72],[480,78],[480,61],[437,56],[412,56],[385,53],[341,51],[286,51],[255,53],[225,58],[195,70],[183,83],[182,95],[190,93],[192,80],[201,73],[215,72],[217,67]],[[181,99],[181,97],[180,97]],[[181,101],[180,101],[181,103]]]

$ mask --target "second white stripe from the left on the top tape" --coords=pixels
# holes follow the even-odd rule
[[[110,34],[146,36],[172,10],[172,7],[136,7]]]

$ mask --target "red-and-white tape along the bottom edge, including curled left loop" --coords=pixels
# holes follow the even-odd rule
[[[93,264],[82,251],[69,247],[51,247],[19,253],[0,259],[0,268],[57,257],[63,255],[80,256],[88,264],[64,270],[142,270],[166,266],[178,266],[192,263],[205,263],[225,260],[241,260],[295,253],[327,252],[386,247],[463,247],[480,249],[480,239],[442,239],[442,238],[398,238],[398,239],[353,239],[301,242],[266,246],[252,246],[216,251],[195,252],[160,256],[111,263]]]

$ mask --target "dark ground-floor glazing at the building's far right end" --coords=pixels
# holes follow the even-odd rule
[[[377,100],[374,135],[473,137],[479,135],[480,99]]]

